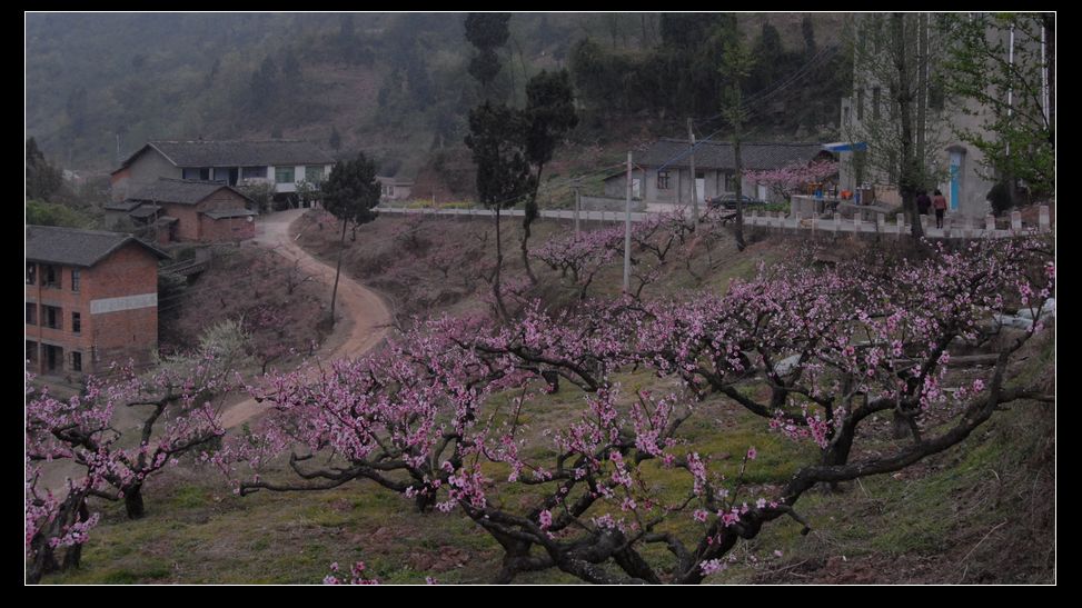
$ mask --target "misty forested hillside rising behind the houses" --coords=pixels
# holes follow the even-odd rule
[[[109,170],[148,139],[285,137],[413,173],[461,146],[482,98],[465,17],[31,13],[27,137],[70,169]],[[748,93],[775,90],[752,117],[764,132],[828,130],[846,86],[835,14],[516,13],[509,27],[494,94],[522,104],[529,77],[567,68],[586,118],[574,137],[594,143],[629,122],[717,127],[736,31],[757,58]]]

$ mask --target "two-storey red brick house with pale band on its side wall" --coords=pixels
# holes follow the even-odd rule
[[[131,235],[27,227],[27,367],[93,373],[151,360],[158,346],[158,260]]]

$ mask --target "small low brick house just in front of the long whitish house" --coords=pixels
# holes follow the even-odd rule
[[[158,178],[121,202],[105,206],[107,221],[128,218],[159,243],[237,241],[256,236],[255,201],[229,186]]]

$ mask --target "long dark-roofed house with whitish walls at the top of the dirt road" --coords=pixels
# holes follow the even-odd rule
[[[110,173],[112,199],[121,201],[158,178],[215,181],[225,186],[272,183],[278,193],[301,181],[327,179],[335,159],[314,143],[270,141],[150,141]]]

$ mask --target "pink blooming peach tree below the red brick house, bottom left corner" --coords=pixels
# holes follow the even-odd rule
[[[220,399],[235,382],[232,360],[217,349],[166,361],[138,377],[120,370],[113,378],[90,377],[81,395],[57,399],[32,387],[27,376],[26,550],[28,580],[78,566],[80,545],[98,521],[90,497],[123,500],[129,518],[143,517],[146,482],[182,455],[207,449],[225,430]],[[136,432],[117,422],[118,408],[137,408]],[[42,472],[54,462],[79,475],[64,487],[43,488]],[[64,549],[62,559],[57,551]]]

